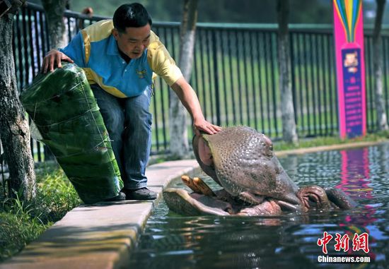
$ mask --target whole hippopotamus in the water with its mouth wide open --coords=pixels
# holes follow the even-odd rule
[[[340,189],[298,187],[274,155],[272,141],[247,126],[194,136],[201,169],[223,189],[212,191],[198,177],[182,176],[192,189],[163,191],[170,210],[181,215],[280,215],[308,210],[348,210],[356,203]]]

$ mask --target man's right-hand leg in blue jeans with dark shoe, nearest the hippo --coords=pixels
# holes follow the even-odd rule
[[[123,165],[129,180],[124,184],[127,198],[155,199],[156,193],[146,189],[146,165],[151,148],[151,89],[124,100]]]

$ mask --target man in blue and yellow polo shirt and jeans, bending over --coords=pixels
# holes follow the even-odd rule
[[[197,135],[221,130],[204,119],[197,95],[151,31],[151,24],[144,6],[124,4],[113,20],[81,30],[64,49],[48,52],[42,63],[43,73],[62,67],[61,61],[75,63],[86,72],[112,139],[127,200],[156,198],[156,193],[146,188],[145,176],[151,148],[153,72],[178,95],[192,116]]]

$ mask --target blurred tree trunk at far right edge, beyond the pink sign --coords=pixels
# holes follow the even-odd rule
[[[376,20],[374,21],[373,32],[373,70],[374,81],[376,82],[376,113],[378,130],[388,130],[388,121],[385,112],[385,101],[383,99],[383,73],[382,73],[382,55],[381,55],[381,25],[385,0],[376,0]]]

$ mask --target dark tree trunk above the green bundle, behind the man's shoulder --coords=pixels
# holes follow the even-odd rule
[[[69,0],[42,0],[47,18],[50,47],[57,49],[66,46],[64,11]]]

